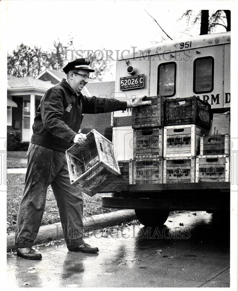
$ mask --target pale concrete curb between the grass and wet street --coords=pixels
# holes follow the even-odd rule
[[[135,211],[133,209],[118,210],[115,212],[92,215],[83,220],[84,228],[95,229],[97,227],[103,228],[112,225],[118,225],[123,222],[136,219]],[[53,239],[59,238],[59,233],[62,233],[61,223],[54,223],[40,226],[34,245],[42,244]],[[7,234],[7,252],[11,249],[15,250],[14,246],[15,233]]]

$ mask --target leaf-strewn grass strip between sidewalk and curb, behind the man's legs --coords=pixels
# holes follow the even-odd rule
[[[18,207],[24,190],[24,174],[7,174],[7,232],[15,230]],[[94,214],[108,213],[117,209],[103,208],[102,196],[110,196],[110,194],[96,194],[93,197],[83,194],[84,215],[89,217]],[[56,200],[51,187],[47,189],[47,198],[45,204],[45,212],[41,225],[59,222],[59,212]]]

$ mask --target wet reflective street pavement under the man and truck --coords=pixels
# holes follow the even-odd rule
[[[96,254],[69,252],[61,239],[38,248],[42,260],[9,253],[8,287],[229,287],[229,231],[212,214],[187,211],[171,213],[164,228],[89,232]]]

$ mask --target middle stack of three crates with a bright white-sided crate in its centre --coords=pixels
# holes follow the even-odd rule
[[[164,127],[163,183],[195,182],[200,138],[209,134],[211,105],[196,98],[170,99]]]

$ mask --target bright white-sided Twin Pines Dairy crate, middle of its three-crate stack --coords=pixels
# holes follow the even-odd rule
[[[197,125],[164,127],[164,157],[192,157],[200,153],[200,136],[209,132]]]

